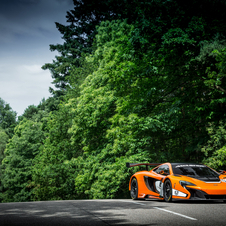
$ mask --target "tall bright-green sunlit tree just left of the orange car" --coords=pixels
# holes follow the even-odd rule
[[[165,128],[157,119],[134,113],[134,99],[129,98],[131,92],[140,98],[134,75],[142,71],[129,42],[133,31],[126,21],[102,22],[96,36],[98,48],[87,58],[98,62],[98,68],[86,77],[80,96],[72,100],[74,118],[69,132],[80,155],[71,163],[77,171],[79,198],[127,197],[125,163],[157,158],[152,153],[152,138],[145,132],[155,134]]]

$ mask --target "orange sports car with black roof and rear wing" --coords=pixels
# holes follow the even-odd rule
[[[126,163],[145,165],[130,179],[132,199],[223,200],[226,202],[226,171],[220,173],[195,163]],[[157,166],[148,170],[148,166]]]

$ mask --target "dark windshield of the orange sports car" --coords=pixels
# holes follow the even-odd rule
[[[214,170],[204,165],[173,165],[173,173],[189,177],[218,177]]]

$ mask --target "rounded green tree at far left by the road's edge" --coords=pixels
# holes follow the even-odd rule
[[[29,201],[32,198],[33,159],[43,144],[42,124],[24,119],[5,150],[3,166],[3,201]]]

